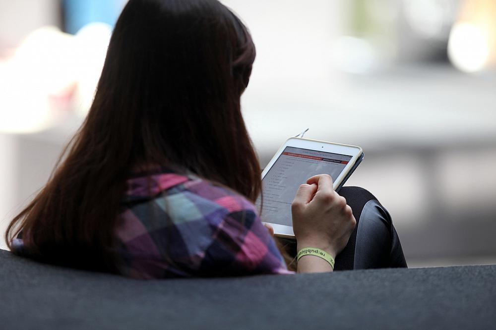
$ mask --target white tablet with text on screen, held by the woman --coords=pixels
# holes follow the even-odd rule
[[[338,191],[363,159],[362,148],[331,142],[289,138],[262,172],[261,218],[279,237],[295,238],[291,203],[298,187],[316,174],[329,174]]]

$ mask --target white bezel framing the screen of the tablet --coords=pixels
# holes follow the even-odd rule
[[[350,172],[350,170],[353,168],[353,166],[355,165],[355,163],[363,153],[362,148],[358,146],[292,137],[287,139],[286,142],[284,142],[284,144],[279,148],[279,150],[276,152],[274,157],[272,157],[272,159],[267,164],[267,166],[265,166],[265,168],[262,171],[262,180],[265,177],[265,175],[269,172],[270,168],[279,159],[279,156],[281,156],[281,154],[283,153],[284,149],[286,149],[286,147],[295,147],[295,148],[308,149],[313,151],[322,151],[326,153],[351,156],[352,158],[350,159],[350,161],[348,161],[348,164],[341,171],[341,174],[337,178],[332,178],[334,190],[336,190],[336,188],[339,187],[341,182],[344,180],[346,175]],[[287,225],[272,223],[267,221],[263,221],[263,223],[270,224],[274,228],[275,236],[295,239],[293,226],[287,226]]]

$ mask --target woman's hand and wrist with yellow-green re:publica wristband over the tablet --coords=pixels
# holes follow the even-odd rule
[[[327,174],[312,176],[307,180],[307,184],[300,186],[291,211],[298,251],[305,247],[316,247],[326,251],[333,258],[344,249],[357,224],[346,199],[334,191],[332,178]],[[304,256],[301,260],[313,260],[312,264],[324,265],[317,260],[320,259],[318,257],[307,257],[313,256]],[[325,260],[322,261],[326,263]],[[302,271],[300,265],[298,271]],[[317,267],[306,268],[303,271],[325,270]]]

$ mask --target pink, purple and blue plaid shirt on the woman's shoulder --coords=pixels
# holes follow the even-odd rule
[[[291,274],[245,197],[162,168],[127,181],[120,241],[135,278]]]

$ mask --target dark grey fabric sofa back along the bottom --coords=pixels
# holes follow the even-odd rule
[[[496,266],[140,281],[0,265],[1,329],[496,327]]]

